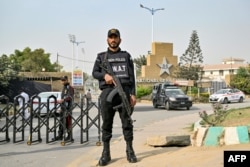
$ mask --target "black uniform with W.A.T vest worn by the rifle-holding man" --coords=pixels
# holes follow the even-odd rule
[[[107,55],[105,56],[105,54]],[[112,52],[108,49],[107,52],[102,52],[97,55],[95,65],[93,68],[92,75],[94,78],[99,80],[99,88],[102,90],[100,95],[100,104],[102,112],[102,141],[109,142],[112,137],[112,126],[113,119],[116,110],[114,106],[121,104],[121,98],[117,93],[112,103],[107,102],[107,96],[114,89],[114,85],[108,85],[105,83],[104,76],[107,73],[100,65],[105,66],[105,57],[110,63],[113,73],[119,78],[124,92],[130,101],[130,95],[135,95],[135,75],[134,75],[134,64],[131,55],[126,51]],[[133,125],[129,119],[129,116],[125,109],[119,108],[119,115],[122,121],[123,135],[125,141],[129,142],[133,140]]]

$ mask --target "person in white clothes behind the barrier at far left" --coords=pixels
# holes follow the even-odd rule
[[[23,112],[23,119],[27,120],[30,116],[29,113],[29,95],[25,92],[25,89],[22,87],[20,90],[20,96],[22,98],[18,98],[18,104],[19,104],[19,111]]]

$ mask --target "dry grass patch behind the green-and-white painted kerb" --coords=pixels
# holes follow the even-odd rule
[[[213,113],[208,115],[206,119],[214,122],[213,126],[250,126],[250,107],[227,110],[220,118]],[[209,124],[202,120],[201,125],[206,126]]]

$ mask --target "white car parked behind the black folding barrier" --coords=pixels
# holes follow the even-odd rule
[[[55,98],[49,98],[52,95]],[[37,96],[40,97],[40,99],[41,99],[41,101],[40,101],[41,102],[40,114],[45,115],[45,114],[47,114],[47,100],[48,100],[48,98],[49,98],[49,110],[52,110],[56,105],[56,101],[61,99],[61,92],[41,92]],[[32,103],[33,103],[33,111],[38,112],[39,111],[38,110],[39,99],[34,98]],[[56,107],[58,108],[58,106],[56,106]]]

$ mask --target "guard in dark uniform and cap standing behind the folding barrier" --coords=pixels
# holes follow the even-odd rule
[[[59,104],[61,104],[61,112],[59,113],[59,117],[60,117],[59,130],[58,130],[58,136],[56,136],[56,138],[52,139],[52,140],[62,140],[63,139],[64,115],[66,115],[65,128],[66,128],[67,133],[68,133],[65,140],[71,140],[72,139],[72,129],[71,129],[71,126],[72,126],[71,119],[72,118],[71,118],[71,115],[69,113],[72,113],[72,112],[70,112],[70,110],[71,110],[71,107],[72,107],[72,104],[74,101],[74,88],[70,85],[67,76],[61,77],[61,82],[63,84],[61,99],[57,101]]]

